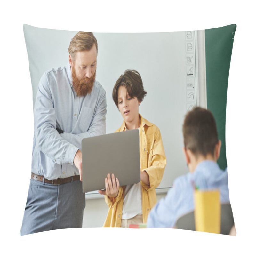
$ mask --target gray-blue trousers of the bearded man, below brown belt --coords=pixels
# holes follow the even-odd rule
[[[62,185],[30,180],[20,235],[82,228],[85,194],[80,180]]]

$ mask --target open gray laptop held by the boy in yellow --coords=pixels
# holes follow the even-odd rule
[[[115,132],[82,140],[83,192],[105,189],[107,174],[120,186],[140,182],[139,130]]]

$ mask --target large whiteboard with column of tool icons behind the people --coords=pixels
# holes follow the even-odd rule
[[[77,31],[24,25],[33,104],[43,73],[68,63],[68,47]],[[183,156],[182,123],[193,106],[206,107],[204,31],[94,33],[98,41],[96,80],[106,90],[106,132],[123,122],[112,100],[116,80],[126,69],[137,70],[147,95],[140,114],[160,129],[167,165],[159,189],[172,187],[188,172]],[[32,146],[32,145],[31,145]],[[159,190],[160,191],[160,190]]]

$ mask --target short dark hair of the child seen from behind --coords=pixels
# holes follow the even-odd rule
[[[196,107],[187,113],[183,123],[184,147],[198,157],[214,155],[218,143],[218,132],[212,113],[204,108]]]

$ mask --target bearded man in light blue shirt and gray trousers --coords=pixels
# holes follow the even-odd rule
[[[69,63],[42,76],[34,106],[32,173],[20,234],[81,228],[83,138],[106,133],[106,92],[95,81],[98,43],[78,32]]]

